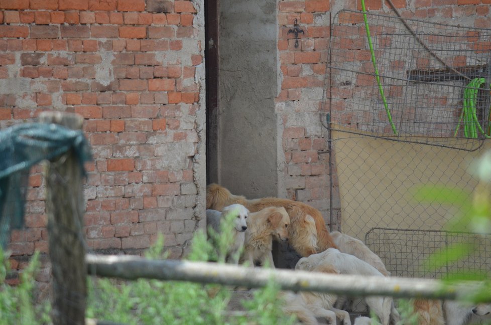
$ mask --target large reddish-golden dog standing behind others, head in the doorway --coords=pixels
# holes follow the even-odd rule
[[[324,218],[319,210],[303,202],[292,201],[281,198],[260,198],[248,200],[244,196],[233,195],[226,188],[218,184],[209,184],[206,187],[206,209],[221,210],[223,207],[239,203],[251,212],[257,212],[266,207],[288,208],[291,222],[295,225],[295,234],[292,234],[290,244],[302,256],[309,256],[317,252],[322,252],[329,247],[337,248],[327,231]],[[309,215],[314,219],[315,233],[310,226]],[[299,222],[298,219],[300,219]],[[293,232],[294,227],[290,228]],[[316,238],[316,245],[312,245],[313,238]]]

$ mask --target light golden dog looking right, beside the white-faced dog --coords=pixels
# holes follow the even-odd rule
[[[251,266],[255,262],[269,263],[274,268],[273,262],[273,237],[278,240],[288,240],[288,226],[290,217],[283,207],[268,207],[258,212],[251,212],[247,219],[246,239],[244,251],[240,262],[249,261]]]

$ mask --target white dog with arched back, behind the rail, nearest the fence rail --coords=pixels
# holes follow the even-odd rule
[[[360,260],[356,256],[341,253],[335,248],[328,248],[322,253],[313,254],[309,257],[302,257],[297,262],[295,269],[308,271],[312,270],[321,263],[332,265],[334,268],[339,270],[341,274],[359,274],[384,277],[379,270],[369,263]],[[391,316],[391,309],[393,309],[392,297],[369,296],[365,297],[365,301],[366,304],[369,305],[370,309],[373,310],[379,317],[382,324],[388,325]]]

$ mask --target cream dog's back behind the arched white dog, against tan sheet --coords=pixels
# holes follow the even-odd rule
[[[365,261],[378,269],[380,273],[384,274],[385,276],[391,275],[391,273],[387,271],[382,259],[377,254],[372,252],[370,248],[366,247],[361,240],[346,234],[342,234],[338,231],[331,232],[331,236],[340,252],[356,256],[360,260]]]

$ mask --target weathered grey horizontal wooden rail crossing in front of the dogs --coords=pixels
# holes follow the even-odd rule
[[[139,278],[263,287],[270,279],[284,290],[330,292],[353,296],[387,295],[462,300],[480,282],[444,284],[434,279],[325,274],[285,269],[179,260],[150,260],[129,255],[86,255],[89,274],[126,280]]]

